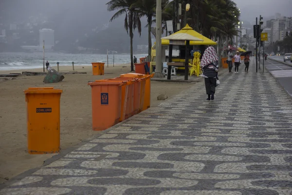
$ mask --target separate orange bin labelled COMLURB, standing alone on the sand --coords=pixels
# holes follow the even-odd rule
[[[24,91],[29,154],[49,154],[60,151],[61,93],[62,90],[53,87],[33,87]]]

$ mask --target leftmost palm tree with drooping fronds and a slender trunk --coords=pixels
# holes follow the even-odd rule
[[[136,0],[110,0],[107,3],[108,11],[117,11],[110,19],[110,21],[118,18],[119,16],[126,14],[125,17],[125,29],[130,36],[130,58],[131,58],[131,71],[134,71],[133,65],[133,37],[134,37],[134,30],[137,28],[138,33],[141,36],[141,20],[139,16],[139,12],[133,4],[136,3]]]

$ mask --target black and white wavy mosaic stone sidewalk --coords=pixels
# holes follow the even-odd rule
[[[197,82],[0,195],[291,195],[292,100],[243,66],[214,101]]]

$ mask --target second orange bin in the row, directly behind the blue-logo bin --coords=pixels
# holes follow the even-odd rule
[[[117,80],[117,79],[101,79],[101,80],[95,80],[95,82],[117,82],[117,83],[123,83],[126,82],[126,85],[122,85],[122,93],[121,93],[121,117],[120,122],[127,119],[128,117],[131,117],[132,111],[131,108],[131,98],[130,98],[130,84],[132,84],[132,81],[125,81],[124,80]],[[133,107],[133,106],[132,106]]]

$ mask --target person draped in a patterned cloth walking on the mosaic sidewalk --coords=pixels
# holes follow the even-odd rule
[[[207,100],[213,100],[215,94],[216,81],[218,78],[219,58],[214,47],[208,47],[201,60],[201,69],[205,78]]]

